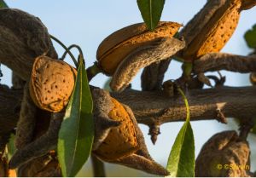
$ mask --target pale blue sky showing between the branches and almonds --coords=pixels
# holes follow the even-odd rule
[[[186,24],[206,2],[206,0],[166,0],[161,20]],[[96,60],[96,49],[105,37],[122,27],[143,21],[137,9],[136,0],[6,0],[6,3],[11,8],[22,9],[38,16],[48,27],[49,33],[58,37],[66,45],[79,44],[84,51],[86,66],[91,66]],[[243,39],[243,34],[256,23],[255,17],[256,8],[241,13],[236,32],[224,47],[223,52],[237,55],[247,55],[250,52]],[[56,43],[55,49],[61,56],[64,50]],[[76,51],[73,52],[77,55]],[[71,60],[67,61],[72,63]],[[2,67],[2,70],[4,77],[1,83],[10,85],[9,70],[6,67]],[[226,84],[230,86],[249,85],[247,74],[232,72],[222,72],[222,74],[227,77]],[[166,73],[166,79],[175,79],[180,75],[180,64],[172,62]],[[91,84],[102,87],[106,80],[107,77],[100,74],[92,80]],[[139,74],[133,80],[132,87],[140,89]],[[231,120],[229,122],[230,125],[234,125]],[[156,146],[153,146],[149,139],[148,127],[141,125],[150,154],[164,166],[166,166],[172,143],[181,125],[182,123],[163,125]],[[230,129],[229,126],[216,121],[194,122],[192,127],[195,132],[196,153],[213,134],[220,130]],[[255,137],[251,136],[251,139],[254,139],[255,143]],[[253,156],[256,157],[255,154]]]

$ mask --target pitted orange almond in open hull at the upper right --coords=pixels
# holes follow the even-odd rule
[[[241,0],[208,1],[205,7],[216,2],[219,3],[215,5],[215,11],[204,8],[195,15],[194,19],[190,20],[194,26],[200,26],[201,20],[196,20],[196,18],[209,11],[211,16],[207,17],[207,23],[201,26],[201,29],[197,29],[197,34],[189,32],[189,27],[181,32],[187,42],[187,48],[183,49],[183,59],[196,60],[207,53],[219,52],[235,32],[240,18]]]

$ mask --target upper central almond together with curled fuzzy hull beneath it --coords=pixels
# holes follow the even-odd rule
[[[150,32],[144,23],[126,26],[105,38],[97,49],[99,67],[112,76],[114,91],[124,90],[140,69],[160,60],[167,60],[185,43],[173,37],[181,25],[161,21]]]

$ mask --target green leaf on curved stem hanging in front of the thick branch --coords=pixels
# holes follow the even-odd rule
[[[174,141],[166,169],[170,172],[170,176],[172,177],[194,177],[195,141],[193,130],[189,122],[189,102],[183,94],[183,91],[179,88],[178,91],[183,95],[187,109],[187,118]]]

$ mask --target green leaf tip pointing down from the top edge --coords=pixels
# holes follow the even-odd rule
[[[157,26],[164,9],[165,2],[165,0],[137,0],[137,6],[140,9],[143,20],[150,31],[154,31],[154,28]]]

